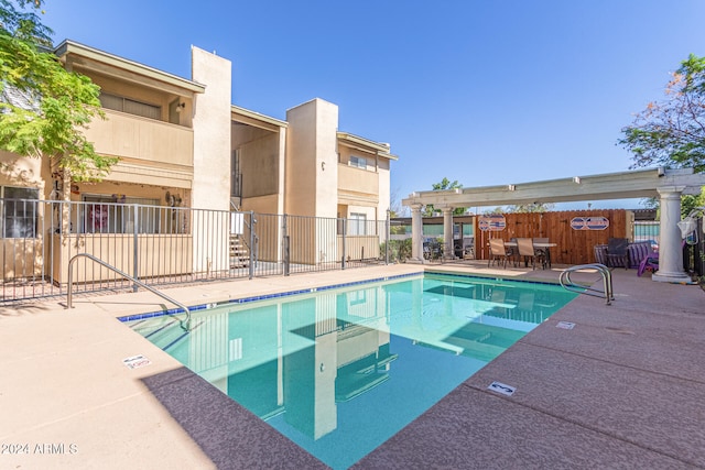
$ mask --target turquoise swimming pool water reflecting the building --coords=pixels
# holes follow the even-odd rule
[[[345,469],[576,294],[425,274],[228,304],[131,328],[333,467]]]

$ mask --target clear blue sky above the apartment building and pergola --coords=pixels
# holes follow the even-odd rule
[[[45,11],[55,43],[186,78],[192,44],[215,51],[232,62],[234,103],[257,112],[338,105],[341,131],[399,155],[398,200],[444,177],[473,187],[626,171],[621,128],[663,97],[681,61],[705,55],[703,0],[50,0]]]

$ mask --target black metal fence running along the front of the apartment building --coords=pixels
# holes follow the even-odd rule
[[[150,285],[389,262],[389,221],[0,199],[0,304],[66,295],[91,254]],[[87,258],[74,293],[137,288]]]

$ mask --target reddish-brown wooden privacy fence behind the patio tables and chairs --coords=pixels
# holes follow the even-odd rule
[[[475,220],[475,253],[478,259],[488,256],[490,238],[509,241],[512,238],[547,238],[557,247],[551,249],[551,260],[556,264],[586,264],[595,262],[593,247],[607,244],[611,237],[631,238],[633,212],[625,209],[567,210],[560,212],[505,214],[503,230],[484,231],[479,219]],[[576,230],[572,227],[576,218],[604,217],[609,226],[601,230]],[[574,226],[578,223],[573,222]]]

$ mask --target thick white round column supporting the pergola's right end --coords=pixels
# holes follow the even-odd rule
[[[659,238],[659,271],[651,276],[659,282],[688,282],[691,277],[683,269],[681,244],[681,193],[685,186],[657,188],[661,200],[661,234]]]

